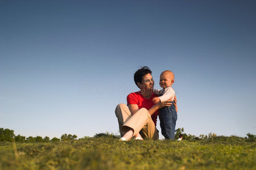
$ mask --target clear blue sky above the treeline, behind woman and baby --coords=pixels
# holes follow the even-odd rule
[[[256,133],[256,1],[0,1],[0,128],[118,133],[148,66],[175,74],[176,128]],[[158,121],[158,129],[159,121]]]

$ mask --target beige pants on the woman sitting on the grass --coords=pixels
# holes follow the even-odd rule
[[[148,113],[147,109],[141,108],[133,116],[127,105],[121,103],[115,108],[115,116],[117,116],[119,131],[121,137],[130,129],[134,130],[133,135],[141,134],[143,139],[158,139],[158,130]]]

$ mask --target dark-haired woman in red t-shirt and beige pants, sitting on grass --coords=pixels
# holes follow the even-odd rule
[[[121,141],[128,141],[132,137],[141,140],[142,138],[159,138],[156,129],[158,109],[170,107],[172,103],[168,103],[171,100],[158,104],[152,102],[156,95],[152,93],[154,80],[151,73],[152,71],[146,66],[137,70],[134,74],[134,82],[140,91],[127,96],[128,107],[125,104],[118,104],[115,109]],[[176,105],[176,97],[174,103]]]

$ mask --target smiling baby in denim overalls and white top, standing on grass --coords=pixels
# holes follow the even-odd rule
[[[166,70],[160,74],[160,86],[163,88],[162,90],[154,89],[154,94],[159,97],[154,97],[152,101],[154,104],[158,102],[164,102],[169,99],[172,101],[170,103],[174,103],[175,91],[172,88],[172,84],[174,84],[174,73],[172,71]],[[177,121],[177,111],[175,109],[175,105],[172,104],[170,107],[164,107],[159,109],[159,120],[160,127],[162,130],[162,135],[166,139],[174,139],[175,136],[175,126]]]

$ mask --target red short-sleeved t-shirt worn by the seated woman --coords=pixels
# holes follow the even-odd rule
[[[137,104],[139,109],[146,108],[147,110],[152,108],[153,105],[155,105],[152,102],[152,99],[154,97],[157,97],[155,94],[152,93],[150,99],[144,98],[140,92],[134,92],[127,96],[127,105],[129,104]],[[158,118],[158,111],[156,111],[154,114],[151,115],[152,121],[155,123],[156,126],[156,120]]]

